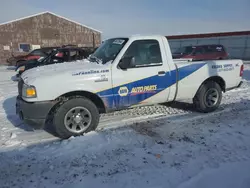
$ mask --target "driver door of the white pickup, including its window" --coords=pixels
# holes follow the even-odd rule
[[[124,53],[133,64],[125,70],[113,66],[112,81],[114,103],[122,109],[134,105],[149,105],[166,102],[169,89],[166,88],[169,68],[163,63],[161,40],[135,40]]]

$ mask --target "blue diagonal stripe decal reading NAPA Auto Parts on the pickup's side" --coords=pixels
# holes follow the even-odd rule
[[[206,63],[192,64],[179,68],[177,80],[180,81]],[[139,70],[138,70],[139,71]],[[165,76],[152,76],[135,82],[110,88],[97,94],[102,98],[106,108],[124,108],[138,104],[176,83],[176,70],[166,72]]]

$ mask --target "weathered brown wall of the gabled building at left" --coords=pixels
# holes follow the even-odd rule
[[[12,53],[23,54],[19,52],[20,43],[41,47],[65,44],[92,47],[100,45],[101,33],[51,13],[7,23],[0,26],[0,64],[6,63]]]

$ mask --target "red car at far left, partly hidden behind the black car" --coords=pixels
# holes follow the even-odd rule
[[[13,66],[18,66],[19,64],[27,61],[27,60],[37,60],[41,57],[46,57],[53,49],[57,49],[59,47],[46,47],[46,48],[40,48],[40,49],[35,49],[28,53],[27,55],[19,55],[19,56],[14,56],[12,54],[12,57],[7,59],[7,62],[9,65]]]

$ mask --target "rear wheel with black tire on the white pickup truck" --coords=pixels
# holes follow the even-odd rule
[[[218,95],[217,100],[213,98],[212,102],[211,99],[210,102],[208,102],[209,101],[208,95],[209,93],[211,94],[211,92],[214,92],[214,94],[212,93],[212,95],[214,96],[215,93]],[[215,111],[219,107],[221,99],[222,99],[222,89],[220,85],[214,81],[208,81],[202,84],[202,86],[199,88],[193,99],[193,103],[197,111],[208,113]],[[213,104],[211,105],[211,103]]]

